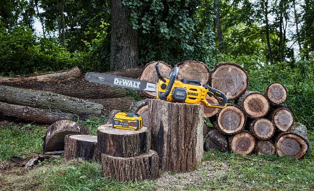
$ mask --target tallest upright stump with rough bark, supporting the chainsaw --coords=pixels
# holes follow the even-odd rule
[[[203,106],[149,100],[152,148],[165,170],[191,171],[203,156]]]

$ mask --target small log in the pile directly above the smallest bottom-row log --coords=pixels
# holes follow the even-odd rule
[[[273,122],[265,118],[253,120],[248,124],[250,132],[261,140],[270,139],[275,133],[275,125]]]

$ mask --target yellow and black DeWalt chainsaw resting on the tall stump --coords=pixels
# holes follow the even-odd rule
[[[206,84],[202,85],[198,80],[176,80],[179,70],[178,67],[174,67],[169,76],[167,78],[163,78],[160,75],[158,64],[159,63],[156,64],[156,72],[159,78],[157,84],[144,80],[95,72],[86,73],[85,80],[125,89],[156,92],[158,100],[187,104],[197,104],[202,102],[204,106],[217,108],[225,108],[227,106],[227,97],[221,91]],[[209,95],[210,97],[216,95],[217,97],[223,98],[222,104],[208,103],[205,99],[206,95]]]

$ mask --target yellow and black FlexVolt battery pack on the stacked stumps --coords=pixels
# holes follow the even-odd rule
[[[142,117],[137,113],[117,113],[112,120],[116,129],[139,130],[143,126]]]

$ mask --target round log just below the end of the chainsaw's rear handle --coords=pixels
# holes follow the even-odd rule
[[[230,103],[217,113],[215,119],[214,127],[228,135],[240,132],[246,122],[246,116],[240,107]]]

